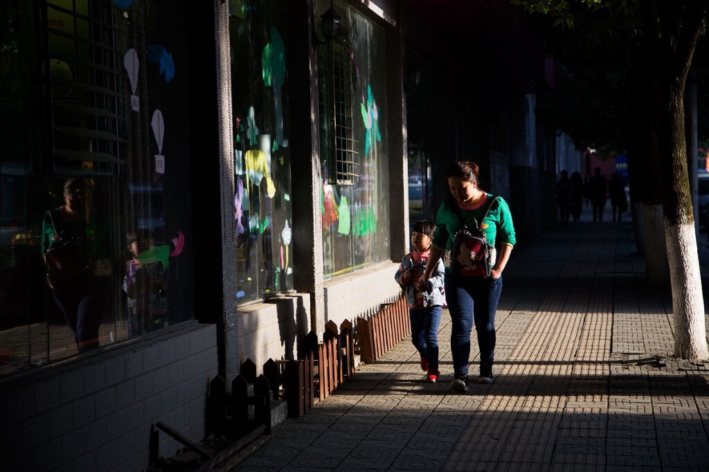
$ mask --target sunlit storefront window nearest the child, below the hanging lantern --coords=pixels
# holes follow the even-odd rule
[[[343,8],[318,48],[326,277],[389,260],[384,31]]]

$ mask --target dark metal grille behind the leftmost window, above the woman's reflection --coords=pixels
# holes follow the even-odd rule
[[[92,162],[94,172],[123,164],[125,120],[121,51],[110,1],[46,2],[45,64],[52,103],[55,162]]]

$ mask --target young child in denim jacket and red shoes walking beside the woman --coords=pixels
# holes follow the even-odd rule
[[[426,381],[435,383],[438,371],[438,325],[445,303],[443,276],[445,266],[442,261],[428,279],[425,291],[419,291],[416,282],[425,269],[430,253],[435,224],[421,220],[413,225],[411,244],[413,252],[401,260],[394,280],[406,291],[406,304],[411,319],[411,341],[421,355],[421,369],[426,371]]]

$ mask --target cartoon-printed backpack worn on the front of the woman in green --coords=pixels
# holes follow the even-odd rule
[[[488,196],[480,223],[485,219],[490,207],[497,196]],[[463,215],[458,208],[457,201],[450,201],[453,213],[458,217],[462,228],[455,233],[453,247],[450,255],[450,269],[454,276],[461,277],[489,277],[492,265],[492,247],[489,245],[487,235],[480,228],[477,220],[475,227],[466,225]]]

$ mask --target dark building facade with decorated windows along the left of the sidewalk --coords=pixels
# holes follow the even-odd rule
[[[455,160],[523,237],[553,221],[520,12],[332,3],[333,38],[325,0],[0,7],[2,470],[142,470],[157,421],[201,439],[214,376],[400,296]],[[86,263],[59,283],[62,246]]]

